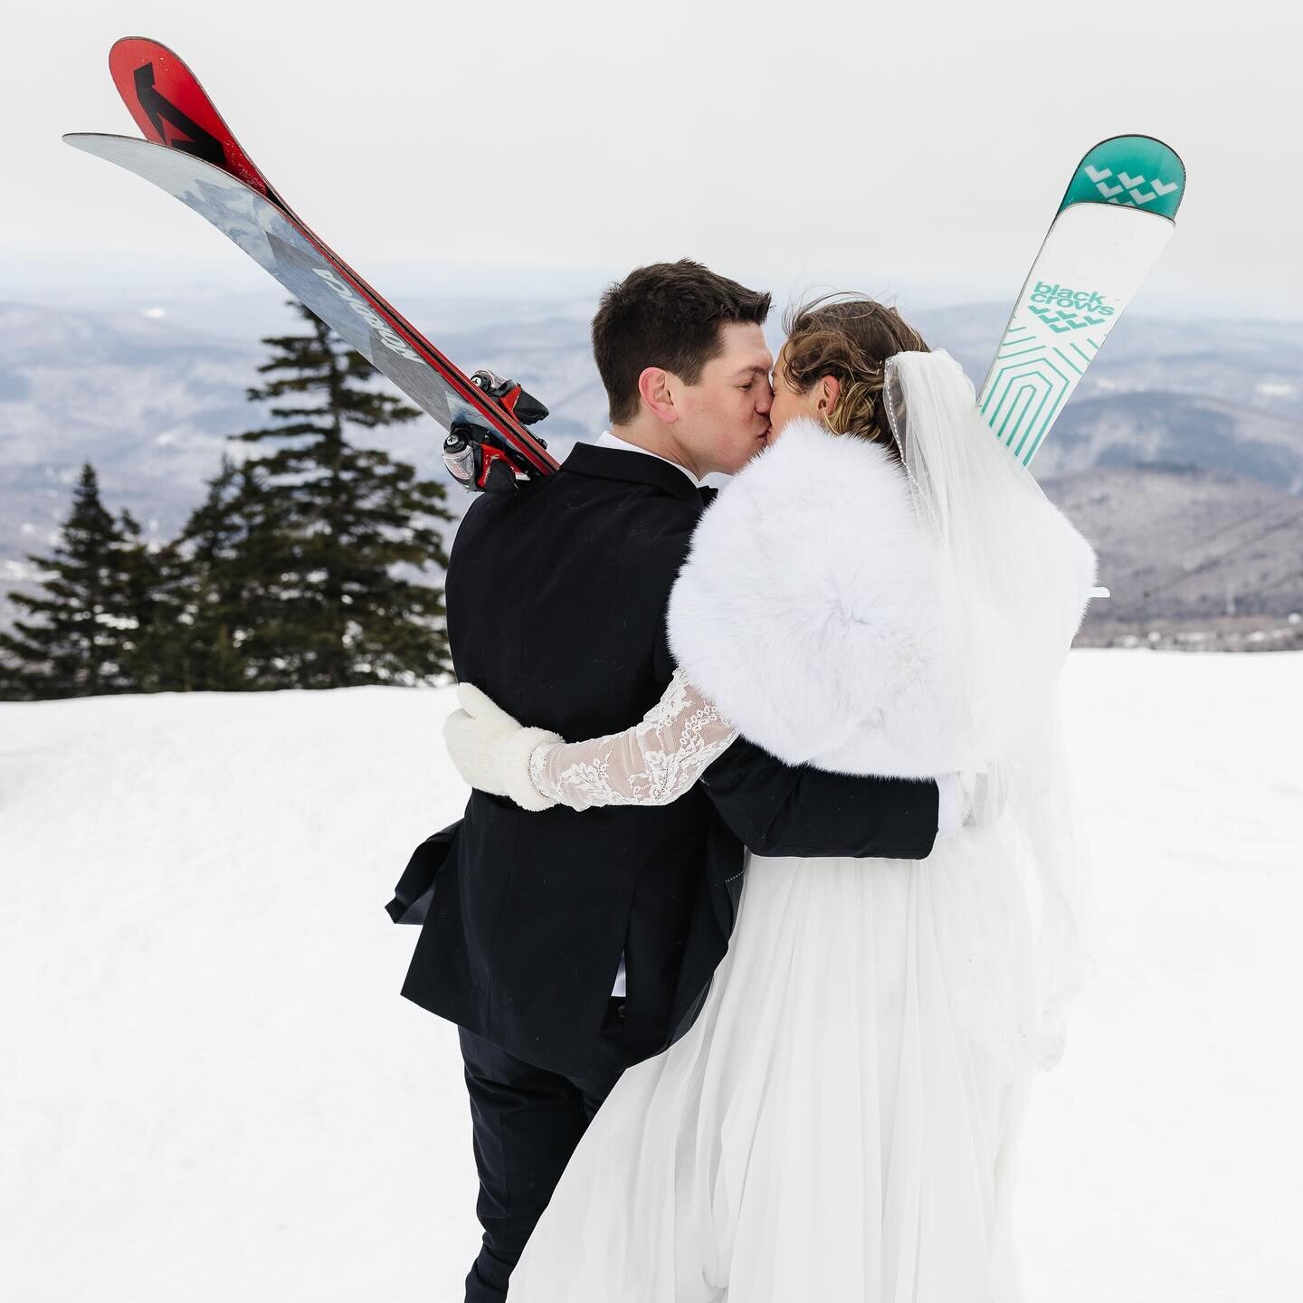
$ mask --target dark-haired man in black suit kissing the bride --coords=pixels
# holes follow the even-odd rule
[[[688,261],[607,289],[593,352],[611,433],[470,507],[447,575],[459,679],[569,739],[623,730],[659,700],[666,602],[710,494],[700,480],[739,470],[769,434],[769,302]],[[423,919],[403,994],[460,1028],[485,1231],[466,1303],[507,1296],[620,1072],[691,1024],[744,847],[921,859],[937,831],[937,783],[791,769],[745,740],[661,808],[532,814],[470,794],[390,906]]]

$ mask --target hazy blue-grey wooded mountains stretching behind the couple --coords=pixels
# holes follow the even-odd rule
[[[490,366],[541,396],[559,456],[603,429],[590,301],[401,308],[463,367]],[[980,383],[1006,313],[967,305],[911,317]],[[278,300],[248,296],[124,313],[0,304],[0,620],[4,592],[30,585],[22,555],[48,550],[82,461],[96,466],[111,511],[129,508],[156,538],[179,529],[224,435],[261,423],[245,400],[265,356],[258,336],[287,327],[296,328]],[[429,422],[383,438],[439,472]],[[1303,323],[1124,318],[1035,469],[1097,543],[1113,618],[1298,611]],[[1259,519],[1274,526],[1260,539]]]

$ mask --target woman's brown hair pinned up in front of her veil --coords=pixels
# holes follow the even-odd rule
[[[860,294],[825,294],[787,310],[783,377],[801,394],[825,375],[840,390],[827,414],[834,434],[881,443],[899,460],[882,403],[882,373],[895,353],[930,352],[894,309]]]

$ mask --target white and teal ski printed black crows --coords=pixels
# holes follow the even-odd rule
[[[1171,238],[1184,188],[1178,155],[1149,136],[1102,141],[1078,164],[977,400],[1023,465]]]

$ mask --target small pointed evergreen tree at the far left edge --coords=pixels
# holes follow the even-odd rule
[[[142,547],[129,513],[115,521],[86,463],[63,523],[53,556],[27,554],[44,572],[46,595],[12,592],[14,606],[35,620],[0,632],[7,694],[23,700],[130,692],[129,667],[139,603],[133,592],[133,555]]]

